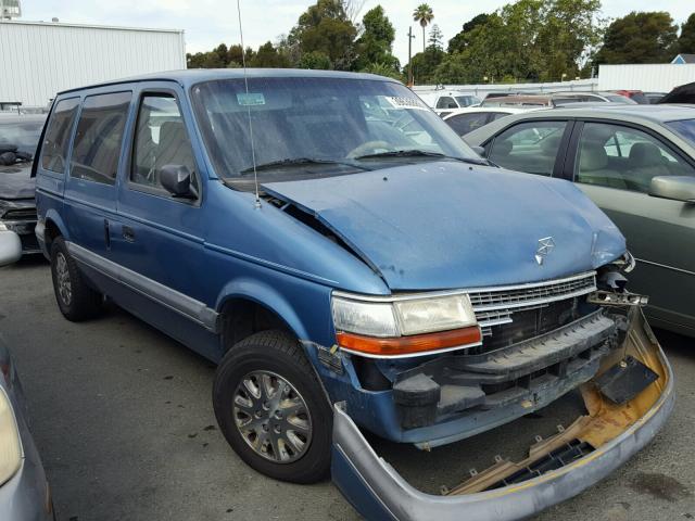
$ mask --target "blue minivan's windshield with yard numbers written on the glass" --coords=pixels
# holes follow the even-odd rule
[[[192,100],[216,173],[235,188],[252,188],[249,113],[260,182],[442,156],[480,161],[419,98],[391,81],[249,78],[247,93],[243,79],[224,79],[194,86]]]

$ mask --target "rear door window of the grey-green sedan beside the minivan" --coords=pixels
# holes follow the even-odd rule
[[[528,122],[497,136],[490,160],[510,170],[552,176],[567,122]]]

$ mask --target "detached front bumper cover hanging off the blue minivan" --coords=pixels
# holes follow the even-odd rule
[[[426,494],[375,453],[351,419],[350,406],[339,403],[334,407],[333,481],[370,520],[525,519],[581,493],[645,446],[666,422],[674,401],[671,368],[642,312],[631,307],[620,318],[606,310],[598,313],[590,319],[593,323],[579,327],[593,334],[604,320],[606,325],[614,321],[611,334],[617,332],[618,339],[604,342],[609,345],[599,348],[605,350],[603,355],[582,356],[585,367],[595,367],[581,385],[586,414],[556,435],[536,439],[528,458],[497,457],[494,466],[444,487],[441,495]],[[554,336],[546,345],[557,340]],[[592,358],[595,363],[587,361]],[[519,415],[526,406],[525,402],[517,405]]]

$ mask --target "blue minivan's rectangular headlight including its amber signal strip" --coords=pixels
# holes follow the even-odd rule
[[[369,357],[405,357],[480,345],[482,334],[466,294],[332,297],[338,345]]]

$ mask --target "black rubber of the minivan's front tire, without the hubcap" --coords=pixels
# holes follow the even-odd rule
[[[242,380],[257,371],[267,371],[285,379],[294,387],[292,391],[299,393],[308,410],[311,442],[303,454],[295,456],[298,459],[291,462],[277,462],[260,455],[237,427],[235,394]],[[293,483],[315,483],[328,476],[333,423],[331,406],[299,342],[291,334],[262,331],[232,346],[215,373],[213,406],[227,442],[253,469],[276,480]]]

